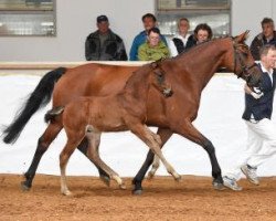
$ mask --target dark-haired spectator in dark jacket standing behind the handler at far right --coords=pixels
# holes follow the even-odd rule
[[[270,18],[264,18],[261,22],[263,32],[257,34],[251,43],[251,53],[255,61],[259,61],[259,49],[265,44],[276,46],[276,31],[274,21]]]

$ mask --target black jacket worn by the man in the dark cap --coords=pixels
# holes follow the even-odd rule
[[[96,31],[86,38],[85,57],[87,61],[127,61],[127,53],[123,40],[112,30],[103,45]]]

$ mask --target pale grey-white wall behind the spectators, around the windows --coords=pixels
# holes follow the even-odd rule
[[[153,0],[56,0],[56,38],[0,38],[0,61],[84,61],[85,38],[96,29],[96,17],[106,14],[110,28],[129,52],[134,36],[142,30],[141,15],[155,12]],[[276,21],[276,0],[232,0],[232,34],[251,30],[251,43],[264,17]],[[273,11],[274,10],[274,11]]]

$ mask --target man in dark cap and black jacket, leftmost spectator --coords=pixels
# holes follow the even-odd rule
[[[127,61],[125,44],[121,38],[109,29],[109,22],[106,15],[97,17],[97,31],[86,38],[86,60]]]

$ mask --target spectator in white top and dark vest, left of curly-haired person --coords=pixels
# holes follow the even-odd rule
[[[181,18],[178,22],[178,34],[176,34],[169,42],[171,56],[177,56],[184,51],[188,38],[190,36],[188,33],[189,29],[189,20],[187,18]]]

